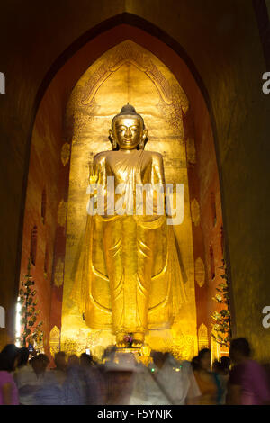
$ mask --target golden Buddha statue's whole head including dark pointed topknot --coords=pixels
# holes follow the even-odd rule
[[[121,112],[112,119],[112,129],[109,130],[109,138],[112,148],[131,150],[143,149],[148,131],[144,127],[144,121],[133,106],[129,103],[121,108]]]

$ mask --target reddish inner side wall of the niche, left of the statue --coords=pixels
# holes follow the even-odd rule
[[[31,254],[31,232],[37,229],[37,247],[31,275],[37,291],[37,323],[43,321],[44,347],[49,352],[52,265],[58,225],[58,179],[62,140],[62,115],[57,90],[50,91],[42,103],[31,139],[31,157],[26,193],[20,280],[27,274]],[[42,193],[46,193],[45,216],[41,216]],[[56,311],[53,311],[56,312]]]

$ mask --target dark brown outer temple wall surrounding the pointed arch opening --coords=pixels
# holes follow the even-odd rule
[[[1,345],[13,337],[14,303],[22,252],[23,207],[30,157],[31,129],[40,102],[40,84],[57,58],[95,24],[124,12],[137,14],[156,29],[168,45],[179,45],[198,70],[211,111],[220,173],[226,247],[234,303],[235,336],[247,336],[257,356],[269,359],[270,331],[262,327],[260,311],[270,298],[267,261],[269,247],[269,98],[262,94],[265,59],[251,0],[198,2],[78,1],[2,6],[1,71],[6,94],[0,116],[0,304],[7,329],[0,329]],[[42,7],[44,9],[42,10]],[[128,19],[128,18],[127,18]],[[136,25],[136,19],[134,18]],[[161,31],[157,31],[157,27]],[[104,29],[104,27],[103,27]],[[103,31],[102,28],[95,31]],[[164,31],[165,33],[163,33]],[[33,37],[32,34],[35,34]],[[94,32],[89,33],[89,38]],[[83,40],[82,40],[83,42]],[[76,46],[73,46],[73,52]],[[181,50],[182,51],[182,50]],[[179,49],[180,52],[180,49]],[[183,51],[182,51],[183,52]],[[62,56],[62,63],[68,57]],[[93,51],[95,58],[100,49]],[[163,59],[163,52],[160,52]],[[165,58],[164,58],[165,59]],[[56,63],[52,73],[58,69]],[[171,70],[177,74],[174,64]],[[180,81],[181,83],[181,81]],[[199,80],[199,84],[200,84]],[[195,107],[195,105],[194,105]],[[8,289],[7,289],[8,286]]]

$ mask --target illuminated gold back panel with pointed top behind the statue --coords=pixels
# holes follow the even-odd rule
[[[143,67],[144,63],[147,66]],[[107,71],[110,71],[110,75],[105,77]],[[80,271],[79,258],[82,251],[86,252],[89,163],[95,154],[110,148],[107,133],[112,117],[127,102],[136,106],[148,128],[149,139],[145,151],[155,151],[164,157],[166,183],[184,184],[184,222],[172,230],[175,233],[187,302],[182,304],[171,329],[150,329],[146,341],[150,347],[163,350],[175,348],[184,351],[186,345],[186,350],[190,351],[185,353],[187,356],[197,349],[193,240],[182,123],[182,110],[187,110],[188,101],[168,68],[150,52],[131,41],[121,43],[96,60],[77,82],[67,105],[67,118],[73,115],[75,123],[67,202],[61,339],[63,345],[68,339],[73,339],[84,348],[87,347],[87,338],[97,330],[89,328],[70,295],[77,272]],[[89,226],[89,219],[87,221]],[[87,230],[90,230],[89,227]],[[162,229],[160,227],[157,230]],[[101,241],[100,238],[95,239],[97,243]],[[154,305],[158,295],[161,293],[151,293]],[[109,299],[110,293],[103,291],[103,305],[108,309]],[[180,328],[181,334],[175,336],[179,334]],[[114,342],[115,336],[109,326],[101,330],[93,348],[102,350]]]

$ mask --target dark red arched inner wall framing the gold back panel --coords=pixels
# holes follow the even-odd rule
[[[72,133],[65,129],[64,115],[67,100],[77,79],[82,75],[96,58],[104,51],[122,40],[134,40],[149,49],[164,61],[167,67],[175,73],[175,77],[182,85],[191,103],[192,111],[184,119],[185,138],[193,134],[197,150],[195,166],[189,166],[189,184],[191,199],[197,198],[201,206],[202,220],[199,228],[193,228],[194,258],[204,257],[205,267],[209,266],[209,243],[213,244],[216,264],[220,261],[220,243],[218,227],[221,225],[220,186],[216,156],[211,134],[210,117],[202,98],[201,91],[193,76],[173,49],[166,47],[157,38],[145,31],[129,25],[120,25],[104,32],[94,40],[79,49],[72,58],[58,71],[57,76],[40,103],[33,136],[31,141],[31,163],[29,183],[26,198],[25,219],[23,229],[23,255],[21,278],[25,274],[30,252],[31,229],[38,227],[38,255],[32,274],[36,278],[40,300],[40,318],[44,320],[47,352],[49,330],[53,326],[60,327],[62,286],[56,287],[54,269],[58,259],[65,257],[65,227],[58,225],[57,211],[61,200],[67,202],[68,170],[60,159],[62,145],[71,142]],[[67,125],[68,127],[68,125]],[[40,218],[40,202],[42,190],[47,191],[47,219],[45,224]],[[218,221],[215,229],[211,228],[211,211],[209,209],[210,193],[214,191],[217,198]],[[45,245],[49,246],[49,275],[43,275]],[[207,272],[208,275],[208,272]],[[208,281],[208,280],[207,280]],[[206,284],[201,289],[196,285],[196,302],[198,310],[198,324],[205,322],[210,326],[209,312],[211,311],[211,294],[214,283]]]

